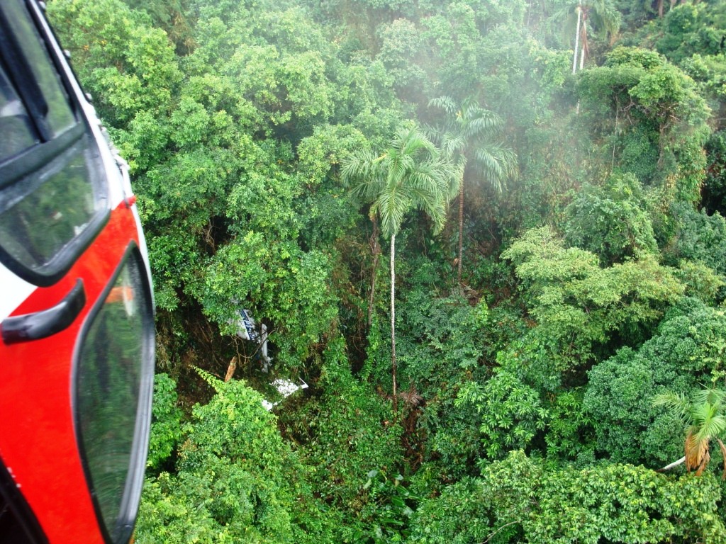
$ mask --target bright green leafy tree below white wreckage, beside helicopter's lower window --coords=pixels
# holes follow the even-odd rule
[[[184,426],[176,474],[147,479],[139,543],[299,543],[328,540],[306,469],[282,442],[262,397],[243,382],[220,382]],[[308,535],[306,525],[319,531]],[[313,539],[313,540],[310,540]]]

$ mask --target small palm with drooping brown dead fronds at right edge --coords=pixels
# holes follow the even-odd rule
[[[709,446],[711,439],[718,442],[724,458],[726,477],[726,446],[718,437],[726,432],[726,391],[705,389],[696,392],[692,399],[666,391],[653,397],[653,405],[665,406],[674,411],[686,424],[685,456],[661,470],[672,469],[685,463],[688,471],[695,470],[701,476],[703,469],[711,461]]]

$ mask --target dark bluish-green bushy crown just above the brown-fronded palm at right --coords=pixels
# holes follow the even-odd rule
[[[595,426],[597,450],[613,461],[655,464],[682,455],[682,426],[652,396],[662,390],[688,395],[722,375],[726,315],[699,300],[674,308],[658,334],[639,350],[623,348],[590,371],[584,408]],[[662,466],[662,464],[661,464]]]

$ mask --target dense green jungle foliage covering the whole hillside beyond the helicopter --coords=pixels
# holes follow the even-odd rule
[[[723,2],[48,14],[150,249],[139,543],[726,542]]]

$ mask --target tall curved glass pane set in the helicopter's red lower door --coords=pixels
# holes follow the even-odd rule
[[[83,336],[76,367],[84,461],[113,542],[129,539],[144,474],[147,445],[140,442],[148,429],[144,403],[153,379],[148,308],[139,260],[127,260]]]

